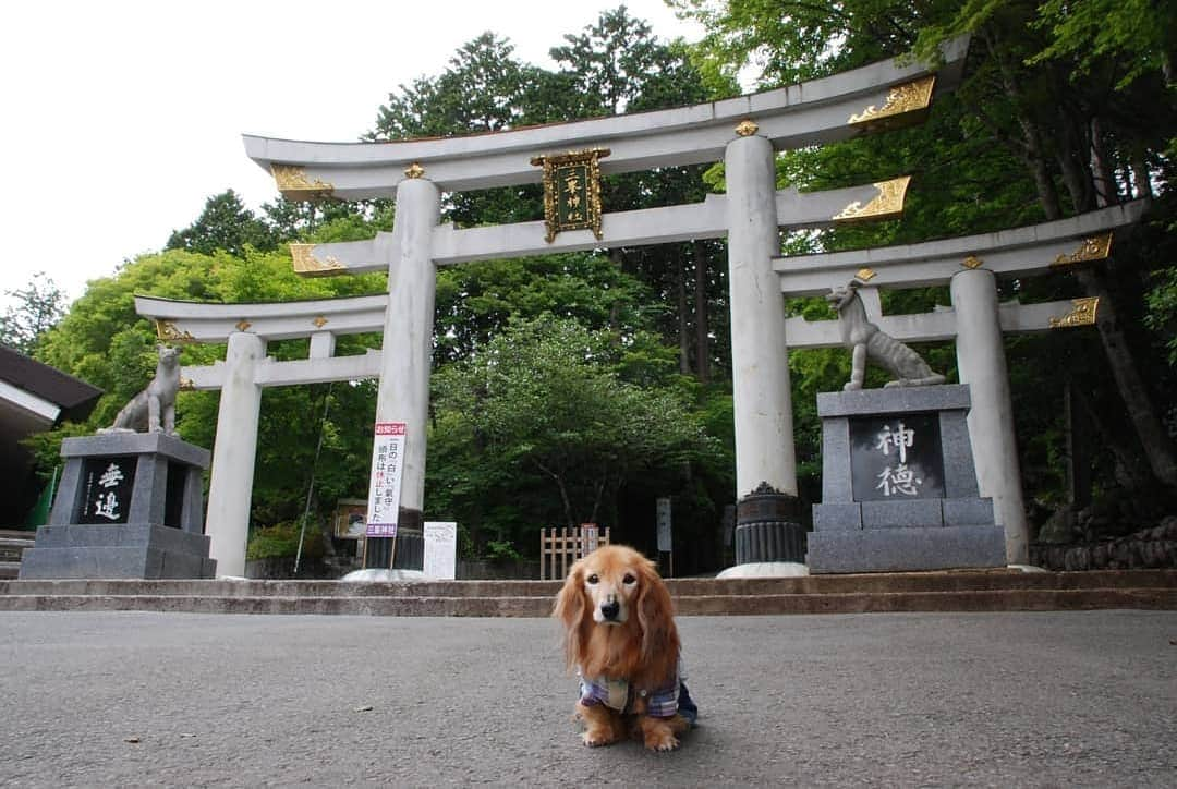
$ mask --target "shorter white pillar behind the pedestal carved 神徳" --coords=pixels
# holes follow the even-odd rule
[[[1010,564],[1026,564],[1029,526],[1022,497],[1022,470],[1013,436],[1013,403],[1005,366],[1005,343],[997,313],[997,280],[984,268],[952,277],[957,319],[957,366],[969,384],[969,439],[977,465],[977,486],[993,499],[993,515],[1005,529]]]

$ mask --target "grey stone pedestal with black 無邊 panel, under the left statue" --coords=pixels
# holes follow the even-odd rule
[[[20,578],[212,578],[201,471],[208,450],[164,433],[67,438],[49,525]]]

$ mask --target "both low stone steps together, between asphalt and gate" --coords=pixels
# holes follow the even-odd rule
[[[547,616],[558,582],[0,581],[0,610]],[[1177,570],[930,572],[669,582],[684,616],[1177,610]]]

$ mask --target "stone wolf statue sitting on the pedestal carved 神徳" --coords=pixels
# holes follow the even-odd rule
[[[851,280],[845,287],[832,289],[825,297],[838,313],[842,344],[853,353],[850,380],[843,389],[863,387],[867,359],[895,376],[895,380],[885,386],[943,384],[944,376],[932,372],[918,353],[866,319],[866,307],[858,296],[858,281]]]

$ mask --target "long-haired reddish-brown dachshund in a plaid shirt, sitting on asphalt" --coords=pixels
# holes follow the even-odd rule
[[[697,708],[679,676],[678,629],[654,563],[631,548],[599,548],[572,565],[553,616],[564,623],[568,669],[580,676],[584,743],[632,735],[650,750],[678,748]]]

